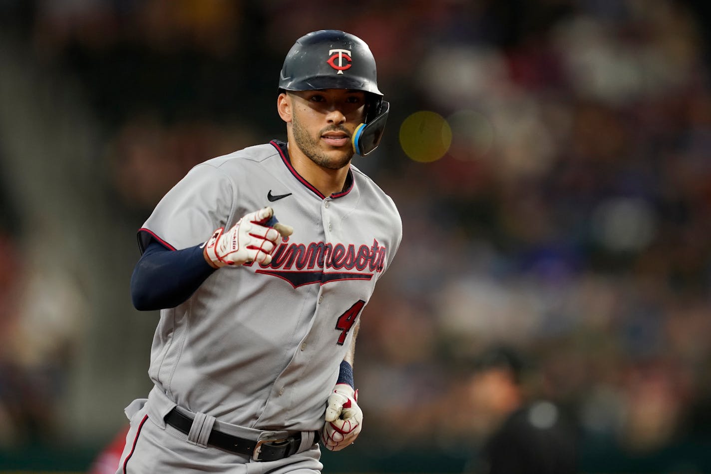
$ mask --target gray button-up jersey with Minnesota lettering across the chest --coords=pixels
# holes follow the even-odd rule
[[[269,265],[220,268],[161,310],[149,375],[178,405],[250,428],[323,426],[350,329],[402,238],[392,199],[352,165],[349,181],[323,196],[270,142],[198,164],[156,206],[141,248],[204,243],[264,206],[294,227]]]

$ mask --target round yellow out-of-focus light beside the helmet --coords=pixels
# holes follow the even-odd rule
[[[402,151],[415,162],[434,162],[442,158],[451,144],[451,127],[437,112],[421,110],[400,125]]]

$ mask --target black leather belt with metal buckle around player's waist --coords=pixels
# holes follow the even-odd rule
[[[164,419],[170,426],[185,434],[190,433],[190,428],[193,426],[193,418],[183,415],[178,409],[172,409]],[[316,435],[314,443],[318,443],[319,433],[314,434]],[[296,451],[299,451],[299,446],[301,446],[301,433],[296,433],[283,439],[252,441],[238,438],[213,428],[208,437],[208,445],[231,451],[232,453],[251,456],[254,460],[271,461],[296,454]]]

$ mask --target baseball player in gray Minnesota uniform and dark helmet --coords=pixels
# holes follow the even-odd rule
[[[299,38],[284,60],[273,140],[191,169],[139,230],[139,310],[161,310],[147,399],[117,473],[318,473],[363,425],[353,384],[360,314],[402,222],[351,164],[388,103],[368,46]]]

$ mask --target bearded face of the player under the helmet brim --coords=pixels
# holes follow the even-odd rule
[[[289,93],[292,134],[297,147],[312,162],[341,169],[353,158],[351,136],[363,122],[365,93],[326,89]]]

